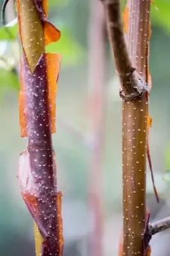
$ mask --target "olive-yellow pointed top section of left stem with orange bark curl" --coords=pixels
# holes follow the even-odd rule
[[[50,42],[57,42],[60,31],[47,20],[47,0],[17,0],[22,50],[31,73]]]

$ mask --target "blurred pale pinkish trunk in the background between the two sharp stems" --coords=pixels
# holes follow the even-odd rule
[[[105,44],[104,10],[98,0],[90,1],[89,21],[89,142],[91,160],[89,167],[89,202],[93,211],[95,230],[91,237],[92,256],[102,256],[102,159],[105,111]],[[92,141],[91,141],[92,140]],[[92,142],[92,143],[91,143]]]

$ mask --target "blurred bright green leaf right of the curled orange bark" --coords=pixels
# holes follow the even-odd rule
[[[59,41],[47,45],[45,51],[61,53],[62,65],[75,65],[83,58],[84,52],[82,47],[73,40],[68,29],[61,28],[60,31],[61,38]]]

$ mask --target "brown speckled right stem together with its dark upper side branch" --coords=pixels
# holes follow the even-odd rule
[[[147,249],[143,234],[146,220],[148,115],[146,46],[149,40],[150,0],[127,1],[127,45],[120,18],[120,1],[102,1],[123,99],[123,255],[143,256]]]

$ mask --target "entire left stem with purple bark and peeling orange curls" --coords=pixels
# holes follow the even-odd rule
[[[23,56],[20,69],[20,133],[27,148],[20,154],[21,195],[35,221],[36,255],[63,254],[61,192],[51,133],[56,131],[56,81],[61,56],[45,45],[60,32],[47,21],[47,1],[17,0]]]

